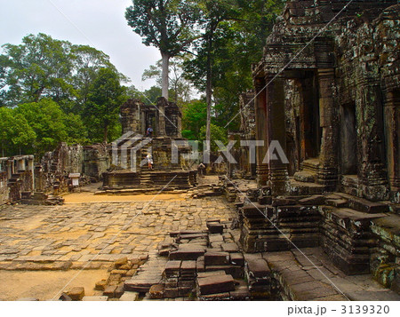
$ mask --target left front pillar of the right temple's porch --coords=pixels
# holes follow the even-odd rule
[[[266,147],[271,146],[271,142],[277,141],[286,154],[286,129],[284,113],[284,79],[273,75],[266,76],[266,83],[269,83],[266,90],[267,107],[267,142]],[[276,155],[277,160],[268,163],[269,185],[273,195],[288,194],[289,192],[289,173],[288,165],[282,162],[281,157],[276,151],[270,155]]]

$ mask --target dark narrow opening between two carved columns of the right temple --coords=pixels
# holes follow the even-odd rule
[[[340,106],[340,172],[357,173],[356,103]]]

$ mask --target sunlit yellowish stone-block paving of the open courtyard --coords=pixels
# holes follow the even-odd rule
[[[56,207],[3,206],[0,269],[108,267],[118,258],[139,257],[155,250],[171,231],[202,229],[206,218],[228,220],[235,216],[234,209],[223,198],[178,197],[170,201],[76,203]],[[152,198],[149,195],[148,201]]]

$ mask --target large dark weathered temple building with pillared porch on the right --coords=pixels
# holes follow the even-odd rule
[[[343,272],[398,289],[400,6],[355,1],[333,19],[346,4],[288,2],[252,68],[255,124],[244,128],[266,146],[259,188],[238,204],[241,242],[320,245]],[[273,140],[288,164],[263,162]]]

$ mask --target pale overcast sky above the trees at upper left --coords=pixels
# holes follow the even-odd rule
[[[131,0],[0,0],[0,45],[20,44],[23,36],[44,33],[72,44],[88,44],[108,54],[136,88],[143,70],[161,59],[155,47],[141,43],[124,18]]]

